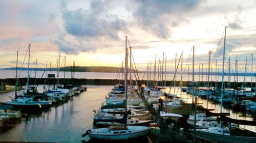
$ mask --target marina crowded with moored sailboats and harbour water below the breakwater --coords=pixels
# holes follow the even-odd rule
[[[127,42],[127,37],[126,37],[126,42]],[[29,49],[30,49],[30,45],[29,45]],[[194,46],[193,46],[193,49],[194,49]],[[61,85],[61,80],[59,80],[59,74],[58,74],[59,71],[57,71],[56,85],[55,84],[52,85],[49,82],[47,87],[47,82],[45,82],[45,85],[38,84],[36,86],[36,78],[34,78],[35,79],[34,86],[33,87],[29,86],[29,80],[27,80],[26,87],[24,87],[26,90],[24,90],[23,93],[16,91],[16,87],[15,87],[14,92],[11,92],[9,96],[8,94],[6,95],[3,94],[0,98],[0,103],[2,104],[1,107],[4,108],[4,110],[7,110],[7,108],[9,107],[12,110],[19,110],[22,113],[26,113],[27,116],[22,119],[20,119],[22,116],[17,117],[18,119],[16,120],[19,120],[19,121],[18,123],[15,124],[9,121],[8,115],[2,115],[4,118],[3,117],[1,118],[2,120],[1,134],[3,133],[3,135],[6,137],[5,133],[8,133],[8,135],[11,134],[12,132],[16,134],[15,131],[18,131],[18,130],[20,131],[25,128],[38,129],[38,127],[36,126],[24,127],[24,123],[25,125],[27,125],[27,123],[32,125],[36,124],[41,127],[42,126],[47,127],[49,124],[54,123],[57,126],[56,125],[51,125],[51,126],[56,129],[60,129],[58,125],[62,123],[63,125],[70,124],[71,128],[73,130],[75,129],[76,131],[79,131],[79,134],[81,134],[83,138],[81,138],[81,136],[76,137],[73,135],[68,135],[68,133],[74,132],[74,131],[66,130],[65,132],[67,136],[73,136],[75,138],[60,137],[63,140],[60,140],[59,142],[79,142],[78,140],[83,142],[88,142],[88,141],[90,142],[91,138],[92,140],[131,141],[132,139],[135,139],[135,138],[143,139],[146,135],[147,135],[147,141],[151,142],[152,141],[151,138],[153,136],[157,136],[158,138],[157,140],[161,139],[161,135],[167,135],[172,138],[172,133],[170,133],[170,131],[173,131],[174,133],[173,135],[183,138],[183,142],[184,141],[191,142],[192,140],[193,141],[204,140],[204,141],[212,141],[212,142],[214,141],[229,142],[234,138],[237,138],[236,140],[238,142],[241,142],[242,140],[246,142],[256,141],[256,135],[255,135],[256,122],[254,121],[255,115],[254,115],[254,109],[253,109],[255,104],[253,96],[255,93],[253,93],[252,83],[251,83],[250,92],[241,92],[238,90],[236,90],[235,92],[234,89],[233,90],[230,89],[230,85],[229,85],[229,90],[226,91],[225,89],[223,89],[223,85],[224,85],[223,84],[224,74],[223,74],[222,90],[221,90],[221,96],[220,96],[220,90],[217,89],[217,83],[215,84],[216,87],[214,90],[212,90],[212,88],[209,88],[209,72],[208,72],[208,84],[207,84],[208,89],[205,90],[199,87],[197,81],[194,81],[194,71],[193,71],[193,81],[189,81],[189,84],[187,85],[187,87],[182,87],[182,82],[180,82],[179,83],[180,86],[177,87],[175,77],[176,77],[177,69],[179,66],[179,63],[178,63],[178,66],[175,67],[176,71],[173,77],[174,80],[171,81],[172,84],[170,85],[170,87],[169,86],[166,87],[165,85],[166,78],[165,80],[163,78],[163,75],[164,75],[163,74],[164,56],[163,56],[163,61],[161,65],[162,68],[160,69],[158,68],[157,81],[155,82],[155,79],[153,80],[154,82],[153,88],[151,88],[152,87],[151,77],[148,78],[148,75],[150,74],[149,72],[147,72],[147,82],[144,84],[141,83],[140,80],[138,81],[135,80],[135,82],[132,80],[132,78],[139,79],[139,76],[136,75],[135,72],[132,73],[131,70],[130,72],[128,72],[129,71],[128,55],[130,55],[129,67],[133,67],[132,60],[131,60],[131,55],[132,55],[131,47],[129,52],[128,52],[128,48],[126,47],[125,48],[125,72],[122,74],[124,75],[123,77],[121,77],[122,79],[119,79],[118,84],[74,85],[74,84],[64,83],[63,85]],[[193,52],[193,56],[194,56],[194,52]],[[59,57],[60,57],[60,54],[59,54]],[[180,57],[182,58],[182,54]],[[135,64],[134,66],[136,67]],[[148,67],[147,67],[147,70],[148,70]],[[156,69],[154,73],[156,73]],[[132,74],[134,75],[132,76]],[[36,71],[35,71],[35,76],[36,76]],[[30,75],[28,70],[28,79],[29,77]],[[72,73],[72,78],[74,78],[74,72]],[[154,78],[155,78],[155,75],[154,75]],[[51,79],[49,78],[49,75],[48,75],[48,78],[45,78],[46,81],[47,79],[48,80]],[[181,74],[181,79],[182,79],[182,74]],[[17,85],[17,81],[18,80],[16,80],[16,85]],[[64,74],[64,82],[65,82],[65,74]],[[174,83],[174,86],[173,86],[173,83]],[[244,82],[242,84],[244,84]],[[88,90],[88,87],[89,87],[89,90]],[[177,93],[176,93],[176,89],[178,89]],[[91,94],[90,94],[90,90],[91,90]],[[92,91],[94,91],[95,93]],[[178,92],[180,94],[178,94]],[[19,95],[19,94],[24,94],[24,95]],[[224,95],[227,96],[227,98],[224,98]],[[10,98],[11,100],[8,100],[8,98]],[[247,103],[248,105],[243,105],[243,104],[246,104],[243,100],[249,100],[250,102]],[[95,103],[93,103],[93,101]],[[88,102],[93,103],[93,106],[89,107],[87,104]],[[242,110],[242,108],[239,109],[239,107],[234,108],[235,106],[244,106],[244,107]],[[90,111],[90,109],[92,111],[90,113],[91,116],[85,116],[85,115],[88,115],[86,112]],[[83,115],[83,118],[81,118],[83,120],[83,123],[84,121],[86,121],[84,126],[79,126],[79,124],[81,124],[80,122],[81,119],[76,119],[76,118],[80,118],[81,115],[74,115],[74,112],[75,113],[78,112],[78,113],[81,113],[81,115]],[[6,114],[8,113],[11,117],[11,111],[6,112]],[[61,116],[59,116],[59,114]],[[217,116],[217,117],[219,116],[220,118],[214,118],[211,116]],[[53,118],[54,118],[54,121],[52,121]],[[37,124],[40,121],[44,121],[42,123],[48,124],[48,125],[47,126],[42,125],[42,123]],[[181,121],[185,121],[185,123],[181,123]],[[237,123],[237,125],[233,123]],[[76,124],[76,125],[73,125],[73,124]],[[239,124],[242,124],[242,125],[239,125]],[[76,128],[76,126],[79,126],[79,128]],[[66,128],[70,128],[70,127],[67,126]],[[49,129],[49,128],[46,128],[46,129]],[[233,131],[231,132],[231,129],[236,130],[236,133],[233,133]],[[157,133],[157,130],[158,130],[158,133]],[[58,133],[60,132],[62,131],[59,130]],[[242,132],[247,132],[247,133],[242,133]],[[37,131],[33,133],[37,134]],[[78,134],[78,132],[76,133]],[[10,138],[8,137],[8,135],[7,135],[7,138]],[[35,134],[32,134],[32,136],[33,135]],[[212,137],[212,136],[215,136],[215,137]],[[58,138],[58,137],[55,136],[55,138]],[[38,141],[38,140],[46,141],[45,138],[43,137],[37,137],[37,138],[31,137],[30,139],[31,140],[27,140],[26,138],[25,141],[29,141],[29,142]],[[18,140],[24,140],[24,138],[23,139],[18,138]],[[9,141],[9,140],[4,140],[4,141]],[[10,140],[10,141],[13,141],[13,140]],[[55,142],[55,140],[50,140],[49,142]],[[175,142],[177,142],[177,140]]]

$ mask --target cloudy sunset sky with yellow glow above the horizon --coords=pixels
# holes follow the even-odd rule
[[[251,65],[256,70],[256,1],[0,1],[0,68],[22,67],[28,43],[30,63],[46,67],[114,66],[125,56],[128,37],[139,70],[166,56],[167,71],[174,70],[175,54],[183,52],[184,66],[191,65],[195,46],[195,67],[204,70],[211,50],[211,66],[222,68],[224,28],[225,66],[236,56],[238,70]],[[247,63],[246,63],[247,56]],[[255,61],[255,62],[254,62]],[[25,59],[27,67],[28,56]],[[157,62],[158,63],[158,62]],[[153,69],[153,68],[152,68]],[[179,69],[180,70],[180,69]],[[247,67],[251,72],[251,66]],[[247,72],[247,73],[248,73]]]

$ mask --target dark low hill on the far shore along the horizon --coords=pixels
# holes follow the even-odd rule
[[[60,71],[73,71],[73,67],[61,67]],[[3,70],[16,70],[16,68],[3,68]],[[28,70],[28,68],[19,68],[18,70]],[[37,71],[44,71],[46,68],[30,68],[29,70],[37,70]],[[49,71],[50,68],[47,68],[47,71]],[[90,67],[81,67],[81,66],[75,66],[74,70],[76,72],[122,72],[122,68],[117,67],[104,67],[104,66],[90,66]],[[51,68],[51,71],[57,71],[57,68]],[[138,71],[140,73],[140,71]]]

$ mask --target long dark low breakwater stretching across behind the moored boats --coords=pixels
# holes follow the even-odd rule
[[[45,78],[36,78],[36,84],[56,84],[56,78],[51,78],[50,80],[47,79],[45,80]],[[0,79],[0,83],[7,83],[10,85],[15,85],[15,78],[4,78],[4,79]],[[129,81],[129,80],[128,80]],[[93,85],[114,85],[121,82],[119,79],[87,79],[87,78],[59,78],[59,83],[63,84],[63,83],[67,83],[67,84],[93,84]],[[130,82],[130,81],[129,81]],[[134,85],[136,85],[135,81]],[[149,81],[149,83],[153,83],[153,81]],[[156,81],[157,82],[157,81]],[[173,81],[166,81],[165,85],[167,87],[169,87],[172,84]],[[26,85],[27,83],[27,78],[19,78],[18,84],[20,86]],[[142,80],[141,81],[142,84],[147,84],[147,80]],[[160,85],[164,85],[164,81],[163,82],[159,82]],[[242,83],[243,82],[230,82],[230,86],[233,89],[234,86],[237,87],[242,87]],[[35,84],[35,78],[29,78],[29,84],[33,85]],[[198,81],[198,84],[200,87],[207,87],[207,82],[206,81]],[[212,87],[215,87],[216,82],[215,81],[210,81],[209,85]],[[158,84],[159,85],[159,84]],[[173,83],[174,85],[174,83]],[[180,81],[176,81],[176,86],[180,85]],[[187,87],[189,85],[189,81],[182,81],[182,87]],[[246,87],[250,88],[251,86],[251,82],[247,82],[246,83]],[[217,87],[221,88],[221,82],[217,82]],[[228,87],[228,82],[225,81],[225,87]],[[252,87],[255,87],[255,82],[252,83]]]

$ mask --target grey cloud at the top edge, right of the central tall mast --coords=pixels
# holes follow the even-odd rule
[[[178,22],[187,21],[185,14],[194,10],[198,1],[136,1],[133,16],[144,31],[151,32],[159,38],[167,39],[172,34],[172,28]]]

